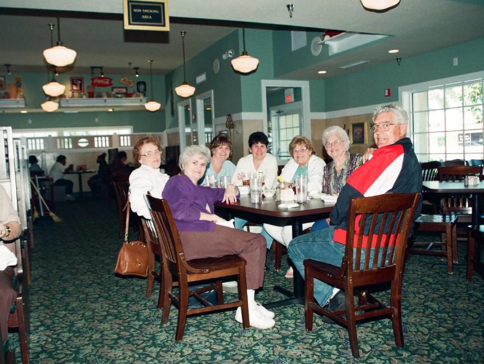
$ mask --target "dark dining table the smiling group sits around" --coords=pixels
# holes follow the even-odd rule
[[[234,205],[227,205],[222,202],[215,203],[215,209],[227,218],[240,217],[256,223],[270,223],[277,226],[292,226],[292,236],[302,234],[302,224],[304,222],[316,221],[328,217],[333,210],[335,202],[324,202],[321,198],[312,198],[305,204],[297,204],[297,207],[280,207],[285,201],[275,201],[274,197],[262,199],[262,203],[254,204],[251,197],[240,196]],[[292,203],[292,201],[291,201]],[[292,304],[304,305],[304,280],[294,269],[293,291],[288,291],[280,286],[275,286],[275,290],[283,293],[288,298],[264,304],[266,308],[276,308]]]

